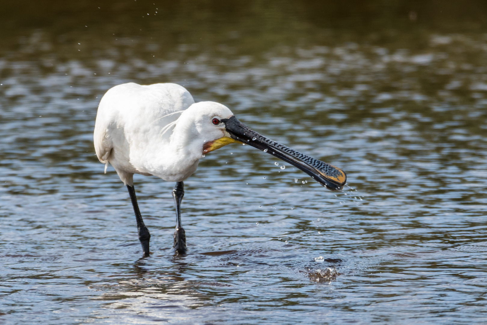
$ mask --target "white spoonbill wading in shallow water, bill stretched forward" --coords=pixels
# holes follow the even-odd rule
[[[196,171],[202,156],[227,144],[241,142],[270,153],[306,172],[330,190],[341,190],[346,175],[341,169],[296,152],[250,130],[224,105],[195,103],[182,86],[125,83],[101,98],[94,128],[98,159],[110,163],[127,186],[144,256],[149,255],[150,233],[140,214],[133,174],[154,175],[176,182],[174,249],[186,252],[181,226],[183,181]]]

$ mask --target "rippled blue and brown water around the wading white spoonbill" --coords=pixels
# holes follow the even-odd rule
[[[231,6],[171,7],[176,18],[157,20],[149,3],[134,7],[149,18],[128,1],[64,16],[52,3],[2,25],[12,31],[0,52],[2,322],[487,322],[480,27],[430,28],[408,10],[400,21],[411,30],[362,35],[313,25],[300,16],[310,4],[295,15],[256,4],[240,20]],[[252,34],[256,12],[263,27]],[[45,20],[26,22],[36,15]],[[129,195],[111,167],[103,173],[92,138],[99,99],[129,81],[219,101],[342,168],[348,187],[327,191],[269,154],[226,146],[185,181],[181,256],[174,184],[136,175],[152,235],[142,259]]]

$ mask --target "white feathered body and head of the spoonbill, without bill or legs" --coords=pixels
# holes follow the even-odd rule
[[[203,146],[225,136],[211,124],[213,116],[232,112],[215,102],[195,104],[182,86],[126,83],[110,89],[100,101],[94,147],[102,163],[110,163],[125,185],[133,174],[183,181],[198,167]]]

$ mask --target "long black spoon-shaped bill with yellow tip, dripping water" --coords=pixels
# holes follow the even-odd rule
[[[325,186],[328,190],[340,191],[347,181],[347,175],[341,169],[303,153],[299,153],[252,131],[235,116],[224,118],[222,119],[222,122],[225,123],[225,129],[232,139],[260,149],[263,152],[270,153],[273,156],[290,163],[313,177],[319,184]]]

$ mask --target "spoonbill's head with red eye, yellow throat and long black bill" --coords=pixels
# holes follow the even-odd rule
[[[191,117],[192,137],[201,144],[204,155],[230,143],[244,143],[272,154],[313,177],[332,191],[345,185],[347,176],[341,169],[288,148],[249,129],[224,105],[216,102],[199,102],[191,105],[181,117]],[[179,123],[178,123],[179,124]]]

